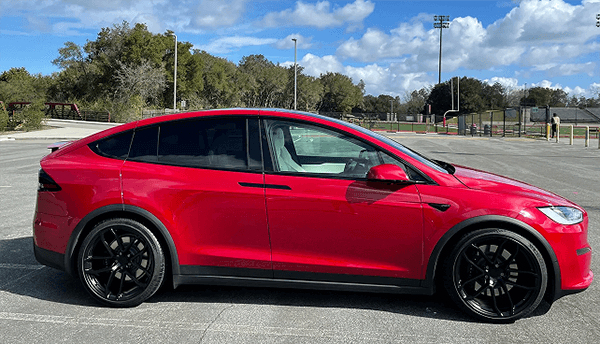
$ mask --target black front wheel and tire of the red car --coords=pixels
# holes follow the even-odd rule
[[[487,322],[510,323],[542,301],[548,271],[529,240],[504,229],[463,236],[444,264],[444,287],[467,314]]]

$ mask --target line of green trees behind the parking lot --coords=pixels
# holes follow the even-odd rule
[[[106,111],[117,121],[140,117],[142,109],[173,106],[174,37],[172,31],[153,34],[144,24],[127,22],[103,28],[94,41],[80,46],[66,42],[52,61],[59,72],[32,75],[25,68],[0,74],[4,103],[45,101],[77,103],[80,108]],[[456,82],[456,79],[455,79]],[[456,95],[457,85],[454,84]],[[186,109],[223,107],[293,108],[294,67],[284,67],[263,55],[245,56],[237,64],[177,42],[177,100]],[[458,99],[455,98],[458,102]],[[319,77],[297,70],[298,110],[321,113],[423,113],[425,104],[443,114],[452,106],[452,85],[444,83],[403,96],[365,95],[365,83],[340,73]],[[460,79],[460,113],[477,113],[520,105],[596,107],[598,98],[569,96],[542,87],[510,89],[474,78]],[[2,124],[2,123],[0,123]]]

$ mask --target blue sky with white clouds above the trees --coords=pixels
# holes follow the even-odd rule
[[[600,90],[600,0],[0,0],[0,72],[25,67],[57,72],[51,61],[65,42],[83,45],[103,27],[128,21],[173,30],[180,41],[238,63],[263,54],[294,60],[310,75],[340,72],[368,94],[404,97],[437,83],[439,30],[442,81],[468,76],[509,89]]]

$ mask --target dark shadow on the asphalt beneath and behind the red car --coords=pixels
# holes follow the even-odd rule
[[[69,305],[98,307],[78,279],[40,265],[32,237],[0,240],[0,291]],[[163,287],[147,303],[206,303],[364,309],[459,322],[474,320],[454,307],[443,293],[433,296],[396,295],[304,289],[185,285]],[[545,314],[542,303],[530,316]]]

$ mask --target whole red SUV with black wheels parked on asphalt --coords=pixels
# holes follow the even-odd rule
[[[588,218],[531,185],[339,120],[229,109],[128,123],[41,161],[39,262],[96,300],[168,283],[432,295],[511,322],[593,279]]]

